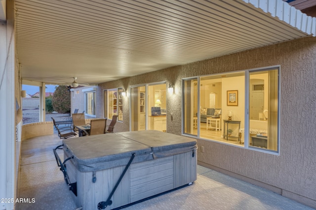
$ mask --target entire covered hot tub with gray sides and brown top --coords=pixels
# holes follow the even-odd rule
[[[65,179],[84,210],[115,209],[197,180],[197,141],[189,137],[144,130],[63,145]]]

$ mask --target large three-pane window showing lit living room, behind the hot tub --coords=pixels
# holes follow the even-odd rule
[[[278,152],[279,68],[183,79],[183,133]]]

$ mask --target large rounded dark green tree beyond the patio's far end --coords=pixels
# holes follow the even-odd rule
[[[53,107],[58,113],[70,113],[70,91],[66,86],[58,86],[53,95]]]

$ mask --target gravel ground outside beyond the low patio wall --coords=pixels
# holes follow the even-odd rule
[[[46,121],[52,121],[54,118],[56,121],[59,120],[72,120],[70,114],[46,114]],[[23,124],[39,122],[40,121],[40,110],[39,109],[23,109]]]

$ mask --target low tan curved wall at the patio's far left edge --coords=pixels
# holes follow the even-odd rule
[[[54,133],[52,121],[35,122],[22,125],[21,141],[36,136],[50,135]]]

